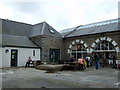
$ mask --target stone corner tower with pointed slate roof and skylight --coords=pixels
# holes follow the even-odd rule
[[[41,60],[59,63],[62,51],[62,36],[46,22],[33,26],[30,39],[41,47]]]

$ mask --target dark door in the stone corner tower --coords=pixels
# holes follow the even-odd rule
[[[50,49],[49,58],[50,58],[50,62],[59,63],[60,49]]]

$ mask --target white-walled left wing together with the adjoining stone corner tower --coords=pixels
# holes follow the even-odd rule
[[[62,36],[46,22],[35,25],[0,19],[0,67],[24,66],[28,57],[59,63]]]

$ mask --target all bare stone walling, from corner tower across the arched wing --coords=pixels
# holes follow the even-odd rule
[[[86,36],[79,36],[79,37],[72,37],[72,38],[57,38],[57,37],[50,37],[50,36],[37,36],[32,37],[32,41],[34,41],[37,45],[41,47],[41,60],[49,61],[49,50],[50,49],[60,49],[61,53],[61,60],[68,60],[69,54],[67,53],[69,45],[79,39],[83,40],[87,45],[88,48],[91,48],[93,42],[96,39],[101,37],[109,37],[114,40],[118,47],[120,48],[120,32],[112,32],[112,33],[102,33],[96,35],[86,35]],[[91,53],[88,53],[91,55]],[[117,59],[120,59],[120,52],[117,53]]]

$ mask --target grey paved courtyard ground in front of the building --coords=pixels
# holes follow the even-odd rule
[[[46,73],[34,68],[2,69],[2,88],[119,88],[119,70],[90,67],[84,71]]]

